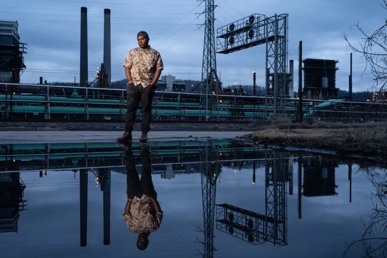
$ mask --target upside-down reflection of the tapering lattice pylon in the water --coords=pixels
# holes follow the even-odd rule
[[[202,175],[202,196],[203,196],[203,220],[204,251],[200,252],[203,258],[214,257],[214,217],[215,217],[215,197],[216,181],[221,173],[221,163],[218,162],[218,145],[211,141],[203,141],[206,151],[201,152],[200,170]]]

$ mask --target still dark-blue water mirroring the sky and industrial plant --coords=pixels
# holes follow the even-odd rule
[[[0,257],[342,257],[387,210],[381,169],[240,140],[0,147]],[[162,214],[145,250],[142,194]]]

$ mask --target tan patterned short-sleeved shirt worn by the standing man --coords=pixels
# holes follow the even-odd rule
[[[133,48],[127,55],[124,67],[131,69],[132,79],[135,85],[142,84],[147,87],[153,80],[156,70],[163,70],[163,60],[160,53],[151,48]]]

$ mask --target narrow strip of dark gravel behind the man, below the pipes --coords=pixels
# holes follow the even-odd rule
[[[196,124],[196,123],[151,123],[151,131],[252,131],[257,123],[249,124]],[[134,131],[140,131],[141,123],[136,123]],[[27,129],[28,128],[28,129]],[[124,123],[77,123],[77,122],[0,122],[0,130],[70,130],[70,131],[123,131]]]

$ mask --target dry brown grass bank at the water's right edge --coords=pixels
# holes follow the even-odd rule
[[[259,144],[321,148],[334,150],[343,155],[363,154],[387,158],[387,123],[322,122],[320,125],[310,125],[309,128],[284,127],[281,123],[280,126],[271,125],[244,138],[252,139]]]

